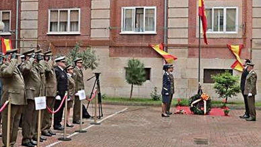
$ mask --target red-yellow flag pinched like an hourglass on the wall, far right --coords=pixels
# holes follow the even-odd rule
[[[243,71],[244,67],[240,59],[240,54],[241,50],[244,45],[230,45],[227,44],[228,49],[233,53],[233,55],[236,58],[236,61],[230,66],[231,68],[238,70],[238,71]]]

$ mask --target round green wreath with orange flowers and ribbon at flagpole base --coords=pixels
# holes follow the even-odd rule
[[[204,112],[204,103],[206,103],[206,113]],[[204,115],[209,114],[211,110],[211,99],[210,97],[203,94],[196,94],[189,99],[190,111],[194,114]]]

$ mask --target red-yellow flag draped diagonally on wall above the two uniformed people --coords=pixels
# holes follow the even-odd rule
[[[166,61],[166,63],[172,63],[174,60],[178,59],[177,57],[166,53],[163,51],[163,44],[159,44],[159,45],[149,45],[150,47],[152,47],[156,52],[158,52]]]

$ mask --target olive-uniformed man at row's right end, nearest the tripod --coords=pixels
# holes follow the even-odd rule
[[[79,100],[78,91],[84,90],[83,73],[82,73],[82,58],[74,60],[76,67],[74,68],[73,79],[75,81],[75,97],[73,108],[73,124],[80,124],[81,101]],[[83,122],[82,122],[83,123]]]

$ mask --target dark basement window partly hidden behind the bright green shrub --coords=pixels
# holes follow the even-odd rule
[[[217,75],[224,73],[226,70],[233,75],[232,69],[204,69],[204,83],[214,83],[214,80],[211,78],[211,75]]]

